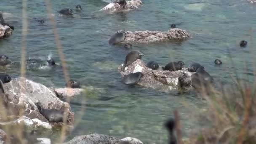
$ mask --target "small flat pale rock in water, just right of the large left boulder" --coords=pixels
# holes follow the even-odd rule
[[[56,88],[53,90],[60,99],[80,95],[82,88]]]

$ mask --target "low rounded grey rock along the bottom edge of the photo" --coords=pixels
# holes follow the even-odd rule
[[[64,144],[118,144],[121,141],[128,141],[130,144],[143,144],[139,139],[126,137],[124,139],[117,139],[112,136],[103,134],[90,134],[84,136],[76,136],[72,140]]]

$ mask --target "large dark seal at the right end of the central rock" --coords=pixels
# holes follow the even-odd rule
[[[206,88],[213,83],[213,77],[203,67],[199,67],[196,73],[191,76],[191,79],[192,86],[196,89]]]

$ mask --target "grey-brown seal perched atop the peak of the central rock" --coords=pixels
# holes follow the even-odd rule
[[[136,51],[136,50],[131,51],[125,56],[125,61],[123,62],[123,67],[121,70],[124,71],[125,67],[133,63],[133,61],[136,61],[137,59],[141,59],[142,56],[144,56],[144,54],[141,53],[140,51]]]

